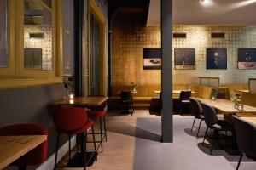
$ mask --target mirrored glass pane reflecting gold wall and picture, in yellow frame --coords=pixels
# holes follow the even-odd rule
[[[53,70],[51,0],[24,2],[24,68]]]

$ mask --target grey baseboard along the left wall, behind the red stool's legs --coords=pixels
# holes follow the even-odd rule
[[[74,135],[73,138],[71,139],[71,148],[73,148],[76,144],[76,136]],[[58,160],[60,161],[63,156],[68,151],[68,141],[66,144],[63,144],[63,146],[59,149],[58,151]],[[40,165],[37,170],[49,170],[49,169],[54,169],[55,167],[55,153],[52,156],[49,156],[49,158],[42,164]]]

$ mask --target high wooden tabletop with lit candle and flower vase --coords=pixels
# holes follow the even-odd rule
[[[50,106],[73,105],[79,107],[102,105],[108,97],[75,97],[74,99],[61,99],[50,103]]]

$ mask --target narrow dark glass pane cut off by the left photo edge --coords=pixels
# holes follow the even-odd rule
[[[0,67],[9,66],[8,0],[0,0]]]

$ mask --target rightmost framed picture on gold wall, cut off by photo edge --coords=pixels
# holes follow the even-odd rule
[[[241,70],[256,69],[256,48],[238,48],[237,68]]]

